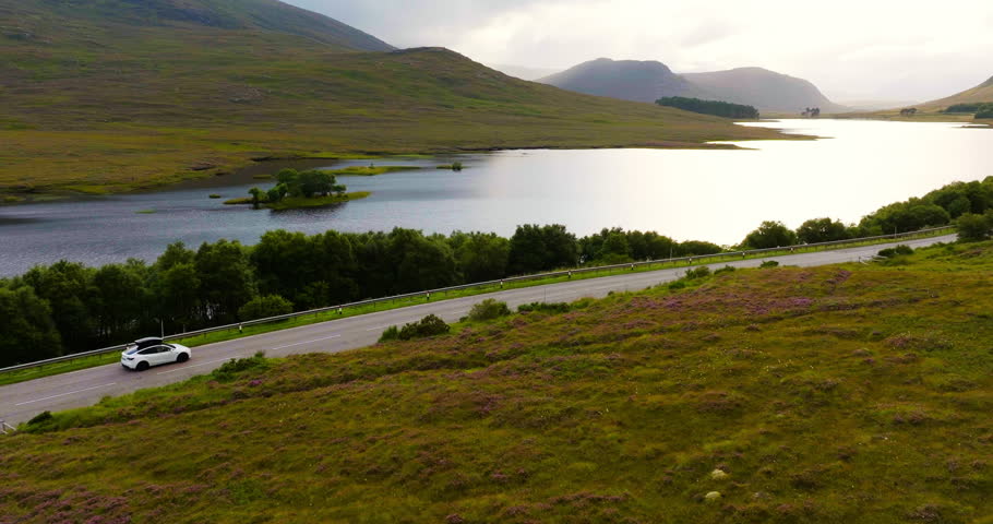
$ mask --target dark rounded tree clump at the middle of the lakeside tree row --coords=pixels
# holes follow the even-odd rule
[[[578,261],[576,236],[554,224],[517,226],[511,238],[510,274],[573,267]]]

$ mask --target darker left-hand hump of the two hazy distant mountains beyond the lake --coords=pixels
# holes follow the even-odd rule
[[[538,80],[588,95],[654,103],[663,96],[704,97],[696,85],[657,61],[600,58]]]

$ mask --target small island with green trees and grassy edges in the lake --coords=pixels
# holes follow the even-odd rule
[[[276,187],[270,190],[252,188],[250,196],[231,199],[226,205],[251,204],[256,210],[266,209],[274,211],[296,210],[302,207],[323,207],[325,205],[340,204],[352,200],[369,196],[369,191],[346,193],[348,188],[338,184],[335,176],[330,171],[310,169],[297,171],[283,169],[276,174]]]

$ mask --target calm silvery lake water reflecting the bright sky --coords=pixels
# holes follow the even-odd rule
[[[129,257],[154,260],[169,242],[219,238],[254,243],[262,233],[455,229],[511,235],[518,224],[565,224],[586,235],[601,227],[654,229],[680,240],[737,243],[762,221],[795,227],[832,216],[857,222],[883,204],[955,180],[993,175],[993,131],[961,124],[785,120],[759,126],[825,136],[752,142],[754,151],[512,151],[465,155],[462,172],[434,169],[451,158],[376,162],[428,169],[347,177],[369,199],[333,209],[270,212],[210,200],[242,196],[260,171],[144,194],[0,207],[0,275],[59,259],[98,265]],[[357,162],[306,162],[336,167]],[[152,214],[139,211],[155,210]]]

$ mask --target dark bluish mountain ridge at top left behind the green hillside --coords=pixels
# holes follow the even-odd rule
[[[283,33],[332,47],[355,51],[395,49],[379,38],[337,20],[295,8],[277,0],[0,0],[0,20],[24,21],[29,25],[57,23],[65,19],[106,27],[210,27],[244,32]],[[83,27],[72,26],[69,31]],[[17,25],[2,27],[16,36]],[[98,34],[99,32],[97,32]],[[21,35],[29,38],[25,29]]]

